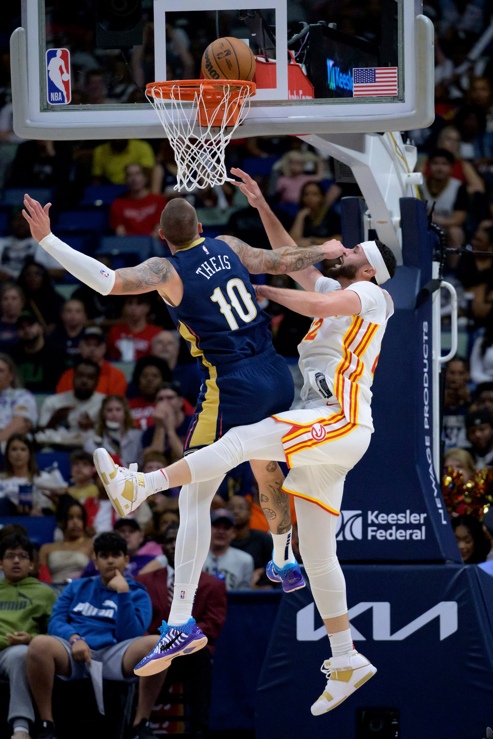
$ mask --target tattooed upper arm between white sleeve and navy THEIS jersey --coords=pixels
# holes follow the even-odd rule
[[[115,270],[111,295],[140,295],[157,290],[173,305],[183,297],[183,283],[169,259],[152,256],[136,267]]]

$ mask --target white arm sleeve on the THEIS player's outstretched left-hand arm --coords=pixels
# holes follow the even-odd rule
[[[97,259],[92,259],[92,256],[75,251],[53,234],[44,236],[44,239],[41,239],[39,243],[44,251],[47,251],[57,262],[60,262],[62,267],[74,277],[92,287],[92,290],[96,290],[97,293],[109,295],[113,285],[115,285],[115,272],[113,270],[98,262]]]

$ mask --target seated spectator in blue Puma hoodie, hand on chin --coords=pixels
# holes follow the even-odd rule
[[[94,551],[99,574],[72,580],[53,607],[49,636],[30,642],[27,677],[42,723],[38,739],[57,737],[52,716],[55,675],[62,680],[90,675],[101,701],[102,681],[92,663],[103,664],[103,678],[133,678],[135,665],[159,638],[143,636],[151,623],[152,604],[143,585],[123,577],[129,563],[125,539],[115,531],[100,534]],[[154,739],[149,716],[165,676],[160,672],[140,678],[132,739]]]

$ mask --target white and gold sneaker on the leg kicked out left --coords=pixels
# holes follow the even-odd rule
[[[137,472],[137,464],[131,464],[129,469],[115,465],[106,449],[96,449],[94,464],[113,508],[122,518],[156,492],[150,475]]]

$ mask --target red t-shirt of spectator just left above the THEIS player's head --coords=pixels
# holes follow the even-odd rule
[[[140,198],[118,197],[109,208],[113,230],[125,228],[129,236],[151,236],[160,221],[166,198],[152,192]]]

